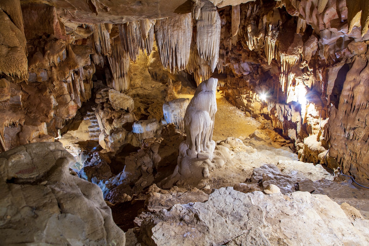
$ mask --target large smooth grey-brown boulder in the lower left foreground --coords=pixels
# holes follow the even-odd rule
[[[0,154],[1,245],[125,245],[97,185],[71,175],[61,143]]]

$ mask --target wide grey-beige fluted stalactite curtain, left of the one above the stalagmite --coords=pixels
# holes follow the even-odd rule
[[[186,68],[192,39],[191,13],[157,20],[155,37],[164,68],[172,73]]]

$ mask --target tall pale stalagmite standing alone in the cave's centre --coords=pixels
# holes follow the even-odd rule
[[[217,112],[217,84],[218,79],[214,78],[201,82],[187,106],[184,115],[187,139],[179,146],[178,165],[168,184],[178,180],[183,182],[186,179],[196,182],[196,178],[208,177],[208,166],[211,165],[215,149],[215,141],[212,138]]]

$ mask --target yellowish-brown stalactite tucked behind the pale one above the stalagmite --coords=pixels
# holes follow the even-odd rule
[[[205,61],[199,56],[196,45],[191,44],[190,59],[187,63],[186,71],[188,73],[193,73],[196,85],[199,85],[201,82],[207,80],[211,75],[213,75],[209,63],[210,62]]]

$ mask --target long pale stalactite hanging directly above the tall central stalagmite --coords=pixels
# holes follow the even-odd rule
[[[201,58],[211,61],[211,71],[218,64],[220,45],[220,16],[213,3],[198,0],[194,7],[194,17],[197,20],[196,45]]]

